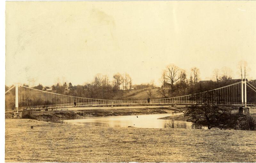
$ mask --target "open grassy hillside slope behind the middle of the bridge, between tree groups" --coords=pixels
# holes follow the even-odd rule
[[[123,96],[116,96],[114,99],[118,100],[146,100],[148,97],[150,99],[162,98],[160,94],[157,93],[158,88],[149,89],[139,89],[139,90],[127,90],[124,92]],[[151,96],[149,95],[151,92]]]

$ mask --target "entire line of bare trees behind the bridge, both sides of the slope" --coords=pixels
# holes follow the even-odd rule
[[[241,74],[241,78],[248,76],[248,66],[246,62],[239,63],[237,68]],[[200,70],[197,67],[192,67],[188,72],[174,64],[166,66],[161,75],[161,87],[157,87],[157,93],[161,98],[177,97],[188,94],[195,94],[220,88],[235,82],[240,82],[240,79],[232,79],[232,70],[228,67],[222,69],[214,69],[212,72],[212,80],[200,81]],[[256,81],[249,81],[256,86]],[[25,84],[24,84],[25,85]],[[28,85],[25,85],[28,86]],[[8,88],[8,87],[7,87]],[[34,87],[39,90],[47,90],[50,87],[44,87],[39,84]],[[126,90],[131,89],[148,89],[148,96],[151,97],[152,88],[155,88],[154,80],[146,84],[132,84],[132,78],[129,74],[116,73],[112,79],[107,75],[96,74],[92,82],[86,82],[83,85],[73,85],[69,83],[57,83],[52,85],[51,91],[59,94],[65,94],[76,97],[98,98],[98,99],[116,99],[121,97]],[[248,102],[256,101],[256,97],[250,89],[247,89]],[[50,90],[49,90],[50,91]],[[125,96],[124,96],[125,98]],[[124,99],[128,100],[128,99]]]

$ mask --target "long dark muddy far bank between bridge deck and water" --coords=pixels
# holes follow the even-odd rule
[[[125,109],[93,109],[93,110],[58,110],[58,111],[26,111],[23,112],[22,118],[35,120],[49,120],[52,117],[58,119],[73,119],[86,117],[108,117],[123,115],[143,115],[143,114],[163,114],[163,113],[180,113],[180,108],[163,107],[163,108],[125,108]]]

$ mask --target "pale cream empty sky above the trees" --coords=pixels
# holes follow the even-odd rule
[[[209,80],[245,60],[256,79],[256,1],[6,2],[6,85],[83,84],[98,73],[159,79],[168,64]]]

